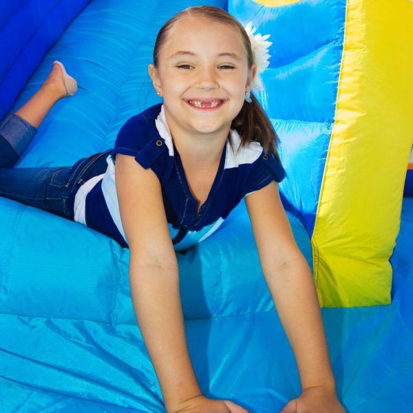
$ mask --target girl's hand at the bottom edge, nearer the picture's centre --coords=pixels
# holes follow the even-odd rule
[[[197,396],[182,402],[178,410],[168,410],[168,413],[248,413],[248,410],[232,401]]]

